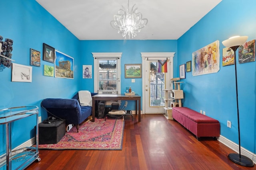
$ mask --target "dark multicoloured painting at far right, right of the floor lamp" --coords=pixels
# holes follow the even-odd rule
[[[255,61],[255,39],[247,41],[238,47],[238,63],[248,63]]]

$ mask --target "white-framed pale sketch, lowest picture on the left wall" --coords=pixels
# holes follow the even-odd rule
[[[32,66],[12,63],[12,82],[32,82]]]

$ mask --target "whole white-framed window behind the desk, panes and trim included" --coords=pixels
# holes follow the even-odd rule
[[[94,92],[120,93],[120,58],[122,53],[92,53],[94,57]]]

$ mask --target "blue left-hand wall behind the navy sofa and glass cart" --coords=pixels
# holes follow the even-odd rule
[[[41,66],[32,66],[32,82],[11,82],[11,68],[0,66],[0,109],[38,106],[44,98],[70,98],[79,89],[80,41],[34,0],[9,0],[0,3],[2,13],[0,35],[13,39],[13,63],[30,65],[30,48],[41,52]],[[43,43],[74,58],[74,79],[43,76]],[[79,65],[78,65],[79,64]],[[39,109],[42,120],[47,117]],[[33,137],[35,117],[12,123],[12,147]],[[0,143],[5,143],[4,125],[0,125]],[[5,146],[0,145],[1,150]]]

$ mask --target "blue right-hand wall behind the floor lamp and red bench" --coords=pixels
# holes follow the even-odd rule
[[[234,35],[248,35],[248,41],[256,39],[255,7],[255,0],[222,0],[178,39],[178,65],[191,61],[194,51],[220,41],[220,70],[200,76],[186,72],[182,102],[186,107],[204,110],[206,115],[218,119],[221,135],[235,143],[238,143],[235,70],[234,65],[222,66],[222,41]],[[238,50],[236,52],[238,56]],[[236,61],[241,145],[255,153],[256,63],[238,64]],[[227,120],[232,122],[231,129],[227,127]]]

